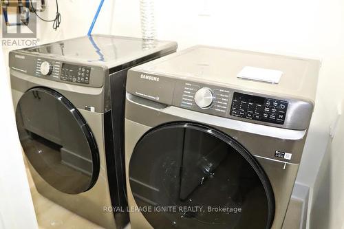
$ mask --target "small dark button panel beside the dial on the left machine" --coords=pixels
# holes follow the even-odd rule
[[[91,67],[63,63],[60,78],[73,83],[89,84],[90,73]]]

